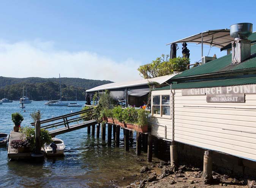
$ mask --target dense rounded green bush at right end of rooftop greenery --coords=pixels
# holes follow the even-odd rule
[[[171,63],[171,67],[174,73],[180,73],[187,69],[187,66],[190,63],[190,59],[184,57],[176,57],[169,59],[169,62]]]

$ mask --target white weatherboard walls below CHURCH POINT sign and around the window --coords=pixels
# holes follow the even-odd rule
[[[174,91],[174,141],[256,160],[256,94],[245,93],[244,103],[207,103],[206,95]],[[170,90],[152,91],[170,93]],[[156,117],[152,135],[172,138],[171,119]]]

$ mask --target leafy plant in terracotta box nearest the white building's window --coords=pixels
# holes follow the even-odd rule
[[[149,112],[144,109],[137,110],[137,121],[134,123],[134,129],[138,132],[146,133],[148,129]]]

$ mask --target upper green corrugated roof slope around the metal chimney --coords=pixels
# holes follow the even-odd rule
[[[256,45],[251,47],[251,54],[255,54],[255,53],[256,53]],[[256,68],[255,56],[237,65],[231,65],[231,61],[232,61],[231,55],[232,54],[225,55],[223,57],[217,58],[216,60],[205,63],[201,66],[183,71],[181,74],[177,74],[176,76],[174,76],[173,79],[179,78],[179,77],[197,76],[201,74],[222,73],[227,71]]]

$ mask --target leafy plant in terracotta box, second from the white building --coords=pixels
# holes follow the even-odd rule
[[[123,120],[129,129],[134,129],[133,123],[137,120],[137,110],[133,107],[123,109]]]

